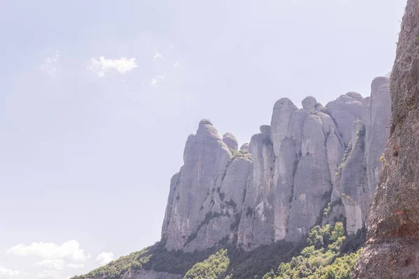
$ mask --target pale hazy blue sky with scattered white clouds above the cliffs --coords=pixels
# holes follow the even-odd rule
[[[369,96],[406,0],[0,1],[0,278],[65,279],[160,239],[207,118]]]

